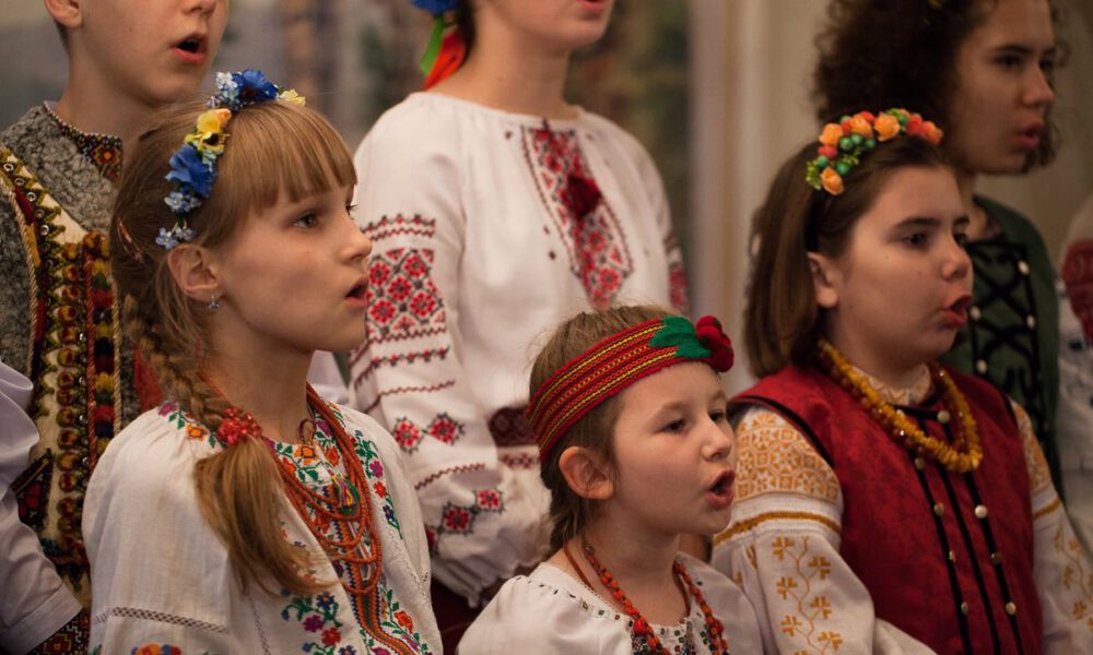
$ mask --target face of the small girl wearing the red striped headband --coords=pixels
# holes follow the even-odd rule
[[[709,366],[677,364],[619,396],[614,493],[603,510],[635,531],[710,535],[729,523],[736,454]]]

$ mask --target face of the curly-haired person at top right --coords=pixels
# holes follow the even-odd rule
[[[1021,172],[1036,152],[1055,99],[1046,73],[1055,59],[1047,0],[997,0],[956,53],[947,148],[968,172]]]

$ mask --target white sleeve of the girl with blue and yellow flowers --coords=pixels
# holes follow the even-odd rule
[[[150,412],[130,424],[87,485],[91,650],[244,652],[235,634],[252,619],[233,606],[236,580],[201,515],[190,444],[157,418]]]

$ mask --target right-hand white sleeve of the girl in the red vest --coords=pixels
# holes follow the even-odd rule
[[[1093,562],[1074,536],[1025,410],[1010,401],[1032,495],[1033,577],[1044,614],[1044,653],[1093,653]]]

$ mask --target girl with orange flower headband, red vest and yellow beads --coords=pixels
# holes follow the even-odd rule
[[[968,216],[941,132],[903,109],[780,169],[730,402],[739,463],[713,563],[778,652],[1090,653],[1091,562],[1029,415],[937,364],[968,320]]]

